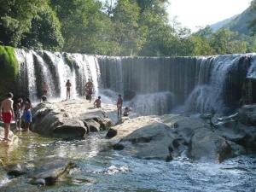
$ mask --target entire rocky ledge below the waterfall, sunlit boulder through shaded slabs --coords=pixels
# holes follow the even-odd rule
[[[206,116],[166,114],[126,118],[113,126],[108,117],[114,113],[113,105],[103,104],[104,109],[91,105],[74,100],[40,103],[32,111],[32,131],[51,137],[84,138],[90,132],[108,130],[114,149],[148,160],[170,161],[186,156],[222,162],[253,153],[256,148],[256,106],[245,106],[230,117],[211,117],[210,121]]]

